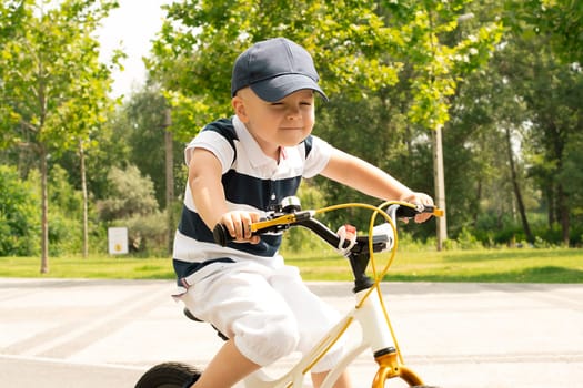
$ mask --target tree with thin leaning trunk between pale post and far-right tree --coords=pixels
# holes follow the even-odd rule
[[[459,96],[460,106],[455,111],[461,116],[456,118],[455,124],[466,126],[461,127],[465,144],[458,146],[470,145],[471,149],[480,152],[471,157],[485,162],[475,177],[481,184],[480,190],[484,190],[487,196],[478,198],[474,208],[479,208],[486,197],[493,202],[489,204],[491,212],[513,213],[516,208],[525,238],[533,243],[534,236],[523,195],[524,174],[521,169],[524,164],[521,152],[523,150],[516,146],[522,144],[521,129],[529,120],[529,114],[523,99],[516,93],[516,88],[507,82],[507,69],[515,61],[514,55],[524,53],[514,51],[513,44],[506,43],[504,42],[496,50],[487,70],[464,83],[463,93]],[[484,129],[487,132],[484,132]],[[480,134],[476,133],[479,131]],[[466,164],[464,169],[465,166]],[[492,166],[496,169],[496,174],[487,173]],[[507,203],[504,197],[511,197],[512,202]],[[461,207],[460,211],[463,212],[463,208]],[[474,222],[476,219],[478,217],[474,216]]]

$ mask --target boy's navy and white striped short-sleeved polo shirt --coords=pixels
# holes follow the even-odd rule
[[[281,149],[278,163],[265,156],[237,116],[208,124],[187,146],[187,164],[197,147],[205,149],[219,159],[229,210],[253,211],[261,216],[282,198],[295,195],[301,178],[319,174],[332,153],[330,144],[310,135],[296,146]],[[183,278],[192,278],[194,273],[202,268],[217,267],[217,264],[223,266],[253,259],[271,266],[280,244],[281,234],[262,235],[259,244],[228,243],[225,247],[215,244],[212,231],[197,213],[190,186],[187,184],[173,249],[179,285],[183,283]]]

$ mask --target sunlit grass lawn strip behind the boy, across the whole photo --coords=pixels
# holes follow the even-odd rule
[[[400,251],[385,280],[583,283],[583,249]],[[285,257],[290,265],[300,267],[306,280],[351,279],[348,261],[330,249],[323,255]],[[49,274],[41,275],[39,268],[39,257],[0,257],[0,277],[174,278],[170,258],[66,256],[49,259]]]

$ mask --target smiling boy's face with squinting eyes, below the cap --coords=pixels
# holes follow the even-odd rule
[[[267,102],[245,88],[238,92],[232,104],[268,156],[278,157],[280,146],[299,144],[314,126],[312,90],[299,90],[278,102]]]

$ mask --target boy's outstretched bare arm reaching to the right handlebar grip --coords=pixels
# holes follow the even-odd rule
[[[330,161],[321,174],[384,201],[398,200],[433,205],[431,196],[413,192],[381,169],[336,149],[334,149]],[[415,221],[423,222],[430,216],[429,214],[419,214],[415,216]]]

